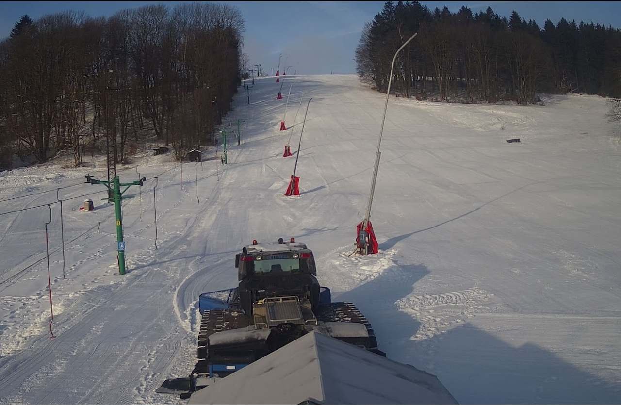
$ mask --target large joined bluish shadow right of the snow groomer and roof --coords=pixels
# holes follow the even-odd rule
[[[395,302],[429,273],[397,265],[333,301],[354,303],[367,317],[388,358],[438,377],[460,403],[618,403],[621,388],[579,370],[535,344],[514,347],[464,324],[430,339],[410,340],[420,322]]]

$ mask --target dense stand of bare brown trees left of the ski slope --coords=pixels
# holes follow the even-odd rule
[[[0,155],[71,149],[79,165],[110,142],[122,162],[160,140],[183,157],[230,109],[243,30],[237,8],[213,3],[22,17],[0,43]]]

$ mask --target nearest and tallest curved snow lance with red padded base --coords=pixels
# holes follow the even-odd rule
[[[384,132],[384,121],[386,121],[386,109],[388,109],[388,98],[390,96],[390,85],[392,82],[392,70],[394,68],[394,61],[397,58],[397,55],[406,45],[414,39],[414,37],[418,35],[418,33],[412,35],[410,39],[401,45],[397,52],[394,53],[394,57],[392,58],[392,65],[390,68],[390,75],[388,76],[388,89],[386,90],[386,102],[384,103],[384,116],[382,117],[382,125],[379,127],[379,139],[378,139],[378,152],[375,155],[375,166],[373,168],[373,177],[371,178],[371,188],[369,189],[369,201],[366,204],[366,214],[365,219],[360,222],[360,224],[356,225],[356,252],[361,255],[370,255],[373,253],[378,253],[378,240],[375,237],[375,232],[373,232],[373,225],[371,225],[371,204],[373,204],[373,194],[375,193],[375,182],[378,179],[378,169],[379,169],[379,157],[381,152],[379,152],[379,145],[382,143],[382,134]]]

